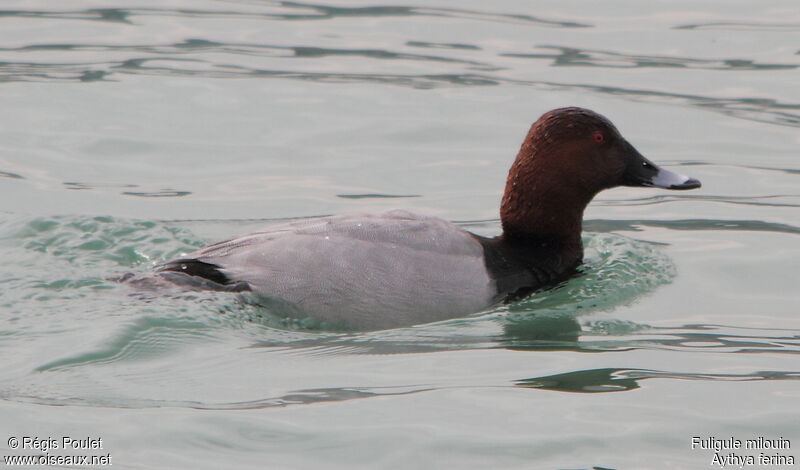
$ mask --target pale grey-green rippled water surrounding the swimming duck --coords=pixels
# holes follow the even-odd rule
[[[0,28],[4,456],[91,436],[50,455],[707,468],[698,436],[800,457],[795,2],[9,0]],[[565,105],[704,186],[601,194],[585,275],[519,304],[337,333],[108,280],[297,217],[496,234],[527,127]]]

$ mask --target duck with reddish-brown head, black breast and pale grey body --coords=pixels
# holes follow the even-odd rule
[[[317,217],[206,246],[156,265],[152,275],[187,289],[245,294],[276,314],[337,328],[449,320],[575,276],[584,210],[617,186],[701,184],[645,158],[604,116],[559,108],[537,119],[522,142],[495,237],[400,209]]]

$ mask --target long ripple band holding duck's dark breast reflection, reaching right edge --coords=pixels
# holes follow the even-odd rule
[[[280,335],[253,347],[291,348],[309,355],[401,354],[505,348],[515,351],[614,352],[674,350],[694,353],[800,354],[800,332],[723,325],[653,327],[619,320],[581,320],[566,314],[461,320],[379,333]]]

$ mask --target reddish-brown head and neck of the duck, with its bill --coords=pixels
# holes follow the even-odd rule
[[[533,123],[509,171],[500,208],[504,232],[579,241],[586,205],[616,186],[694,189],[700,181],[646,159],[593,111],[549,111]]]

